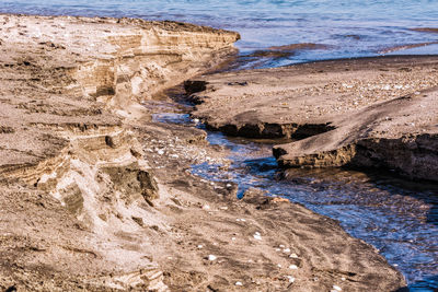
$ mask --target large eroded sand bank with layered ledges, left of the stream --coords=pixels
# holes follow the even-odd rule
[[[0,15],[0,287],[13,291],[392,291],[338,223],[191,174],[227,164],[152,97],[239,35],[140,20]],[[238,84],[237,86],[243,86]],[[170,102],[170,101],[169,101]],[[174,109],[173,109],[174,110]]]

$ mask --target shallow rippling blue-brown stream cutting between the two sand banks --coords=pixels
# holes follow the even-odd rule
[[[153,121],[205,127],[189,109],[159,106]],[[157,107],[155,107],[157,108]],[[189,107],[187,107],[189,108]],[[157,113],[157,112],[155,112]],[[239,185],[238,197],[250,188],[280,196],[337,220],[350,235],[378,248],[397,268],[408,291],[438,291],[438,185],[413,183],[380,171],[281,170],[272,147],[281,141],[251,140],[208,131],[210,144],[230,151],[229,167],[192,165],[192,173],[214,182]]]

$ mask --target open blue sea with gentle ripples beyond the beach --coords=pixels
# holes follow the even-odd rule
[[[287,56],[243,57],[239,68],[277,67],[295,62],[376,56],[390,47],[438,40],[436,0],[18,0],[0,1],[0,12],[132,16],[174,20],[241,33],[241,55],[297,43],[327,45]],[[392,54],[403,52],[395,51]],[[410,54],[438,54],[437,46]]]

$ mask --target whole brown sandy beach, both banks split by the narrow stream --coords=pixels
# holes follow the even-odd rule
[[[344,165],[358,156],[341,159],[339,149],[370,143],[370,151],[377,139],[404,147],[411,135],[416,148],[401,149],[419,149],[430,165],[414,155],[418,163],[411,168],[396,167],[436,180],[436,57],[201,77],[235,54],[239,34],[129,19],[4,14],[0,23],[3,290],[406,285],[374,247],[335,220],[261,189],[238,200],[235,184],[193,175],[195,163],[227,165],[228,151],[210,145],[204,130],[154,121],[160,108],[150,105],[154,98],[172,104],[165,90],[192,80],[185,87],[199,104],[193,115],[211,128],[308,137],[276,148],[280,164],[290,167]],[[331,142],[322,142],[327,136]],[[374,152],[389,157],[378,163],[393,167],[388,153]]]

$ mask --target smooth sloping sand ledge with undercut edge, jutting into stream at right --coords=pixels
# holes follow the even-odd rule
[[[333,131],[277,145],[274,155],[286,167],[382,167],[438,182],[437,101],[433,90],[376,105]]]

